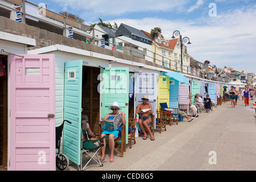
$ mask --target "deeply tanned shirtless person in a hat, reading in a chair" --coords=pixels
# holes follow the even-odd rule
[[[150,127],[148,126],[150,122],[154,122],[154,121],[151,121],[151,114],[153,113],[152,105],[150,103],[147,103],[147,101],[149,101],[148,96],[143,96],[141,99],[142,99],[142,104],[139,104],[137,106],[136,114],[141,113],[141,118],[139,118],[138,122],[139,122],[139,127],[141,127],[141,130],[144,133],[144,137],[142,139],[143,140],[147,139],[147,133],[146,133],[147,131],[150,134],[151,140],[155,140],[155,138],[153,137],[150,131]]]

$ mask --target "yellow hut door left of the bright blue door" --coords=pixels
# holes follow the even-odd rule
[[[170,104],[170,77],[158,76],[158,110],[161,110],[160,103]]]

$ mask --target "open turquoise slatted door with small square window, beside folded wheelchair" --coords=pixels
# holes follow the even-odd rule
[[[82,60],[65,62],[63,153],[81,163]]]

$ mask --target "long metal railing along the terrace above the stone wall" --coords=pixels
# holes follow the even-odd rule
[[[0,2],[7,2],[7,3],[15,5],[14,3],[11,3],[10,1],[1,0]],[[104,42],[105,46],[106,46],[106,44],[112,45],[111,47],[113,47],[112,49],[114,51],[124,52],[123,49],[126,49],[126,52],[130,52],[130,56],[135,56],[134,54],[136,53],[137,55],[138,54],[141,55],[141,56],[139,56],[139,58],[143,58],[144,60],[147,60],[147,59],[153,60],[155,64],[162,65],[163,67],[168,68],[171,71],[182,72],[182,73],[191,73],[191,75],[197,75],[197,72],[193,72],[190,69],[190,65],[181,65],[181,63],[179,63],[179,61],[181,59],[180,60],[176,59],[177,61],[174,61],[174,60],[172,60],[168,57],[165,57],[163,55],[159,55],[158,53],[150,51],[150,50],[148,50],[144,47],[138,46],[138,45],[133,44],[131,42],[127,42],[126,40],[121,39],[120,36],[114,36],[114,35],[108,34],[104,31],[98,30],[94,27],[90,27],[86,24],[77,22],[76,20],[68,18],[67,16],[57,14],[57,13],[51,11],[51,10],[47,10],[47,9],[42,10],[42,7],[38,6],[39,10],[41,10],[39,12],[42,12],[43,14],[39,14],[38,17],[33,16],[31,14],[26,14],[25,9],[24,9],[25,2],[30,3],[31,5],[34,5],[34,6],[38,6],[38,5],[35,5],[34,3],[31,3],[31,2],[26,1],[26,0],[22,0],[22,7],[23,7],[22,11],[19,11],[19,10],[16,10],[16,9],[12,8],[12,7],[6,6],[3,3],[0,3],[0,6],[5,7],[7,10],[18,11],[18,12],[22,13],[22,17],[24,17],[22,19],[22,23],[26,23],[25,15],[29,15],[32,18],[39,19],[42,22],[52,24],[53,26],[56,26],[56,27],[59,27],[59,28],[63,28],[63,36],[67,36],[66,35],[67,30],[71,30],[68,27],[72,26],[73,27],[72,28],[73,33],[75,33],[77,35],[81,35],[84,38],[84,40],[85,40],[86,37],[91,38],[92,39],[92,44],[94,46],[95,46],[95,43],[99,44],[100,42]],[[47,16],[47,14],[56,15],[56,19],[54,17]],[[49,20],[47,20],[47,19],[49,19]],[[63,22],[61,21],[61,19],[63,19]],[[68,20],[68,22],[70,22],[70,24],[67,23],[67,20]],[[76,27],[76,25],[79,25],[80,27]],[[82,29],[81,27],[86,27],[86,28]],[[47,27],[46,27],[46,29],[47,29]],[[88,32],[88,30],[89,30],[89,32]],[[104,35],[111,36],[113,38],[113,42],[107,42],[105,40],[101,40],[101,38],[97,38],[95,36],[95,31],[101,32]],[[77,39],[77,40],[79,40],[79,39]],[[80,41],[85,42],[84,40],[80,40]],[[119,46],[117,44],[117,40],[118,40],[118,42],[123,42],[123,43],[126,43],[126,44],[130,45],[129,48]],[[136,51],[135,52],[135,51],[133,51],[134,47],[137,47],[138,50],[142,49],[143,51],[141,50],[141,51]],[[136,49],[136,48],[134,48],[134,49]],[[152,55],[152,56],[150,56],[150,55]],[[189,68],[185,69],[184,67],[189,67]],[[203,76],[200,76],[200,75],[198,77],[203,78]],[[210,80],[210,78],[208,78],[208,77],[205,77],[205,78]]]

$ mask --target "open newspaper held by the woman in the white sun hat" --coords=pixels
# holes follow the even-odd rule
[[[118,127],[122,124],[122,117],[120,113],[115,115],[114,119],[104,119],[101,118],[101,128],[102,130],[117,130]]]

